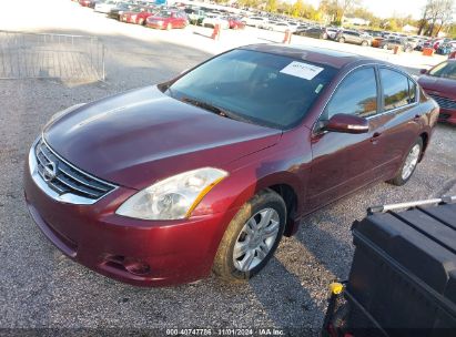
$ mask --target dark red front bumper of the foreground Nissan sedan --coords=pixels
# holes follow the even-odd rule
[[[73,261],[136,286],[176,285],[207,276],[235,214],[232,210],[182,221],[133,219],[115,210],[134,190],[118,187],[92,205],[77,205],[50,197],[34,178],[27,162],[24,196],[43,234]],[[132,265],[148,268],[136,273]]]

